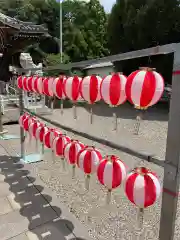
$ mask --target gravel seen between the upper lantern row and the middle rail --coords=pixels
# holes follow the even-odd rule
[[[92,125],[90,124],[88,107],[77,107],[77,120],[73,118],[72,109],[64,109],[63,115],[59,109],[55,109],[53,115],[47,116],[47,118],[164,160],[168,125],[168,109],[166,107],[162,108],[162,105],[158,105],[144,113],[139,135],[134,135],[135,118],[139,113],[132,106],[125,104],[121,107],[110,108],[104,104],[95,104],[93,112],[94,123]],[[118,116],[117,132],[112,131],[113,112],[116,112]]]

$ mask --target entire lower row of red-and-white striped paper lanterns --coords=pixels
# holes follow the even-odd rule
[[[78,140],[62,134],[58,129],[50,128],[35,117],[25,113],[19,119],[19,124],[31,139],[41,142],[52,149],[62,161],[67,161],[75,174],[76,166],[86,176],[86,188],[92,174],[97,175],[99,182],[107,189],[107,196],[111,191],[125,182],[127,198],[139,208],[146,208],[155,203],[160,195],[161,187],[158,177],[145,167],[137,167],[130,173],[119,157],[110,155],[103,157],[95,147],[85,146]],[[109,200],[107,202],[109,203]]]

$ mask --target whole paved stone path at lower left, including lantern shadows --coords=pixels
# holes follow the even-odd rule
[[[89,240],[86,229],[31,174],[31,165],[13,156],[10,141],[0,140],[0,239]]]

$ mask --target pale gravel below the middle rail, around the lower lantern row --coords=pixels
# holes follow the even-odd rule
[[[11,127],[11,133],[17,133],[16,128]],[[126,153],[116,151],[101,144],[92,142],[88,139],[76,136],[66,132],[70,137],[79,139],[85,144],[95,145],[103,155],[116,154],[131,169],[135,166],[146,165],[155,171],[162,182],[163,169],[157,165],[130,156]],[[27,144],[26,144],[27,146]],[[18,140],[11,141],[11,148],[20,151]],[[27,148],[26,148],[27,149]],[[28,145],[28,152],[32,152]],[[70,211],[78,218],[88,229],[89,234],[96,240],[139,240],[139,229],[137,226],[138,209],[133,206],[125,197],[123,186],[113,191],[112,203],[107,206],[106,189],[102,187],[96,179],[91,178],[90,190],[84,189],[84,175],[76,169],[76,178],[72,179],[71,168],[66,165],[66,171],[63,170],[62,162],[56,159],[54,163],[51,159],[51,153],[46,152],[43,162],[33,164],[36,174],[42,179],[46,186],[52,188],[59,200],[66,204]],[[158,239],[159,219],[160,219],[161,199],[152,207],[145,210],[144,227],[141,233],[143,239]],[[178,238],[175,238],[178,239]]]

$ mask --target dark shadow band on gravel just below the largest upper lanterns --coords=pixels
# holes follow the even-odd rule
[[[88,112],[90,108],[84,107]],[[93,105],[93,114],[97,116],[111,117],[113,113],[116,113],[118,118],[122,119],[135,119],[138,111],[133,108],[129,103],[125,103],[118,107],[109,107],[107,104],[101,102]],[[169,117],[169,105],[168,103],[158,103],[153,107],[150,107],[143,113],[143,119],[149,121],[168,121]]]

